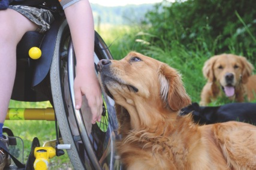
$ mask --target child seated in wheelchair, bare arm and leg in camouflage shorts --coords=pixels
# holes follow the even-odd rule
[[[9,6],[8,2],[10,2]],[[16,74],[16,46],[26,32],[37,31],[44,34],[55,20],[50,10],[13,5],[13,2],[15,0],[0,0],[0,22],[2,23],[0,26],[0,142],[7,148],[8,137],[2,134],[2,127]],[[85,95],[92,112],[91,122],[94,124],[101,119],[103,99],[94,68],[94,22],[91,6],[88,0],[59,2],[67,17],[76,53],[77,66],[74,80],[76,109],[80,109],[82,96]],[[8,165],[10,165],[10,156],[8,157],[8,154],[1,149],[0,169]]]

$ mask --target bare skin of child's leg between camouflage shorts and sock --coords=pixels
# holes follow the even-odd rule
[[[0,23],[4,23],[0,26],[0,123],[4,123],[16,73],[17,43],[37,26],[11,9],[0,10]]]

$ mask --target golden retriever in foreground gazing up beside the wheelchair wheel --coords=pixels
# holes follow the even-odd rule
[[[256,169],[256,126],[199,126],[179,116],[191,103],[176,69],[131,52],[100,60],[99,79],[115,100],[125,169]]]

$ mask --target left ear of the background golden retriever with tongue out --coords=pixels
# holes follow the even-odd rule
[[[210,57],[210,59],[204,62],[203,66],[203,75],[207,78],[208,82],[213,82],[215,80],[214,72],[213,72],[213,65],[215,63],[216,57]]]

